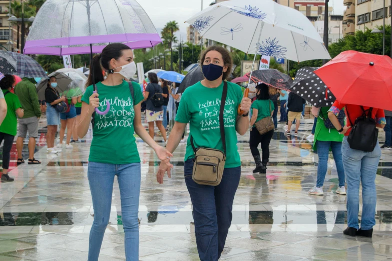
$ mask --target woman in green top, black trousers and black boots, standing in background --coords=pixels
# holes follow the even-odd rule
[[[252,104],[252,118],[250,119],[250,138],[249,138],[249,147],[252,152],[252,156],[254,158],[254,162],[256,163],[256,168],[253,169],[253,173],[266,173],[267,171],[267,163],[269,161],[269,143],[271,142],[271,138],[274,130],[260,134],[257,130],[254,123],[265,118],[271,117],[275,105],[272,100],[269,99],[269,87],[265,83],[258,84],[256,86],[256,100],[253,101]],[[260,158],[260,152],[257,148],[261,143],[261,150],[263,151],[263,156]]]

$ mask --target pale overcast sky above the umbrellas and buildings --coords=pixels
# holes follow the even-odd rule
[[[184,21],[201,11],[201,0],[137,0],[153,21],[160,33],[165,24],[170,20],[176,20],[180,27],[177,37],[186,41],[186,27]],[[209,6],[212,0],[203,0],[203,8]],[[343,0],[330,0],[333,6],[333,14],[343,14],[345,6]]]

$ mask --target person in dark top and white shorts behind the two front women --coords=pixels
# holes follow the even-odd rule
[[[162,87],[159,86],[158,84],[158,76],[154,72],[149,72],[148,73],[148,78],[150,80],[150,83],[146,87],[146,91],[144,92],[144,100],[147,103],[146,107],[146,117],[148,121],[148,130],[150,133],[150,136],[154,138],[155,131],[154,131],[154,122],[157,125],[158,129],[162,133],[162,137],[166,143],[167,138],[166,138],[166,129],[163,126],[163,106],[154,106],[154,103],[152,102],[152,97],[154,96],[155,93],[163,93],[162,92]]]

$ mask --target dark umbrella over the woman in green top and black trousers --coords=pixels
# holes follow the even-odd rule
[[[245,76],[250,76],[250,72],[246,73]],[[288,90],[293,82],[293,79],[277,69],[265,69],[255,70],[252,72],[253,82],[264,82],[265,84],[271,85],[272,87]]]

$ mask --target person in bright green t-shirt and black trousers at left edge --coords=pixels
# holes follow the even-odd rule
[[[10,74],[4,75],[4,77],[0,80],[0,87],[2,88],[4,98],[7,102],[7,115],[4,118],[3,123],[0,125],[0,143],[2,143],[4,139],[2,182],[14,181],[14,178],[10,177],[8,174],[8,169],[10,167],[10,152],[14,142],[14,137],[17,134],[17,115],[20,118],[24,115],[18,96],[10,91],[14,83],[15,78]]]

